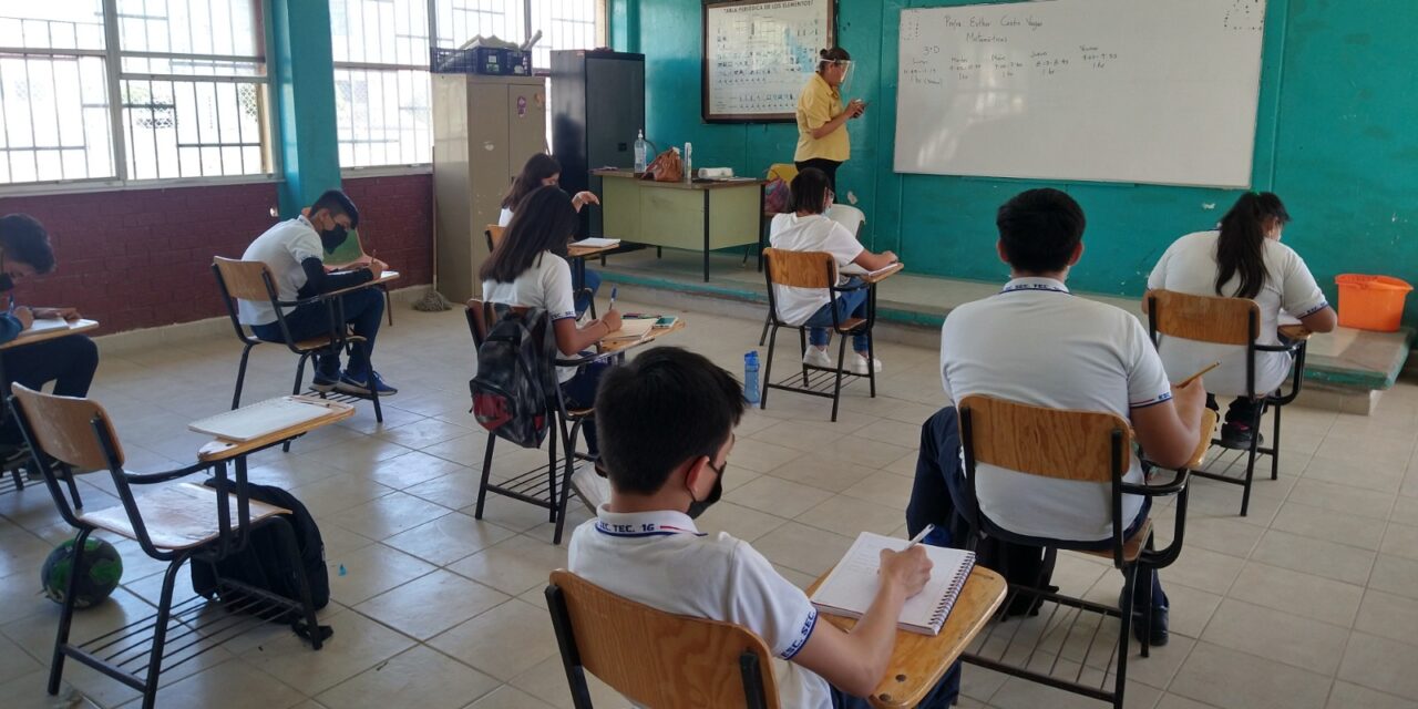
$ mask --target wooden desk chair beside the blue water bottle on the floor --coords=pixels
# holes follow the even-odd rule
[[[769,390],[783,389],[787,391],[797,391],[800,394],[827,397],[832,400],[832,421],[837,421],[837,406],[842,394],[842,377],[861,377],[861,374],[851,374],[842,370],[842,357],[847,354],[847,337],[852,335],[866,335],[866,352],[868,357],[875,359],[875,346],[872,343],[872,325],[876,320],[876,303],[875,296],[868,296],[866,303],[866,318],[847,318],[838,319],[837,311],[832,311],[832,328],[831,330],[837,333],[837,366],[817,367],[803,362],[803,386],[788,384],[793,377],[784,379],[783,381],[773,381],[773,350],[778,339],[778,328],[791,328],[798,330],[798,345],[800,352],[807,352],[807,326],[794,325],[786,322],[781,315],[778,315],[778,301],[774,294],[776,285],[788,288],[817,288],[827,291],[828,298],[837,299],[841,294],[848,294],[854,291],[868,289],[868,292],[875,294],[869,284],[859,284],[852,286],[838,286],[837,261],[832,254],[825,251],[783,251],[778,248],[763,250],[763,261],[766,268],[763,275],[769,284],[769,359],[763,367],[763,400],[760,406],[763,408],[769,407]],[[800,354],[801,356],[801,354]],[[876,397],[876,370],[875,367],[868,367],[866,380],[871,383],[871,396]]]

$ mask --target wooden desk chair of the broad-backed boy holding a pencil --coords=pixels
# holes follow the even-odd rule
[[[1038,644],[1044,644],[1049,641],[1051,637],[1058,638],[1058,631],[1064,627],[1062,624],[1066,624],[1066,631],[1062,635],[1064,642],[1061,647],[1054,649],[1058,655],[1064,654],[1064,645],[1066,645],[1066,641],[1073,635],[1075,627],[1085,614],[1119,618],[1120,628],[1116,658],[1110,658],[1106,666],[1102,668],[1100,674],[1103,679],[1100,683],[1083,682],[1083,672],[1090,669],[1086,661],[1088,657],[1092,655],[1092,644],[1096,638],[1098,628],[1102,625],[1102,620],[1099,620],[1098,625],[1093,625],[1092,630],[1089,630],[1088,625],[1082,627],[1083,630],[1081,630],[1081,632],[1093,632],[1095,637],[1088,640],[1089,647],[1085,651],[1086,655],[1083,661],[1076,662],[1078,672],[1072,679],[1068,679],[1066,676],[1061,678],[1054,674],[1058,666],[1056,659],[1052,662],[1052,666],[1048,666],[1048,669],[1041,672],[1038,669],[1039,665],[1032,662],[1035,652],[1039,651],[1039,645],[1029,647],[1025,640],[1021,641],[1021,647],[1017,645],[1020,628],[1015,627],[1012,632],[1003,631],[1003,621],[997,623],[988,634],[981,634],[971,651],[964,655],[964,659],[990,669],[1021,676],[1069,692],[1076,692],[1085,696],[1092,696],[1105,702],[1113,702],[1113,706],[1122,709],[1123,689],[1127,681],[1127,644],[1132,637],[1133,584],[1139,583],[1139,570],[1166,567],[1176,562],[1177,556],[1181,553],[1181,540],[1187,523],[1188,471],[1185,468],[1177,471],[1173,479],[1164,485],[1136,485],[1123,482],[1123,475],[1127,472],[1132,461],[1133,435],[1127,421],[1116,414],[1045,408],[986,396],[964,397],[960,401],[959,413],[960,442],[964,448],[967,478],[966,486],[968,491],[968,499],[960,501],[959,505],[961,512],[966,515],[966,519],[970,522],[971,532],[968,539],[976,540],[978,539],[978,533],[984,532],[986,535],[997,539],[1028,543],[1031,546],[1038,542],[1032,539],[1020,539],[1018,535],[1012,535],[1011,532],[994,525],[980,512],[978,496],[976,493],[976,467],[978,464],[998,465],[1001,468],[1042,478],[1109,485],[1113,518],[1113,539],[1110,549],[1098,552],[1088,549],[1088,546],[1092,545],[1085,546],[1078,542],[1048,540],[1048,545],[1045,546],[1045,567],[1052,566],[1054,554],[1056,554],[1059,549],[1076,549],[1089,554],[1110,557],[1113,560],[1113,566],[1123,573],[1123,594],[1120,607],[1117,608],[1045,590],[1039,587],[1041,584],[1011,583],[1010,597],[1004,601],[1005,607],[1014,605],[1017,597],[1024,597],[1025,600],[1035,598],[1034,603],[1052,603],[1054,610],[1044,624],[1046,632],[1037,638],[1037,641]],[[1211,415],[1210,421],[1215,423],[1214,414]],[[1132,522],[1130,519],[1123,519],[1124,493],[1144,495],[1149,498],[1177,495],[1176,530],[1173,542],[1167,549],[1160,552],[1153,549],[1153,526],[1150,519],[1144,520],[1134,535],[1127,539],[1123,537],[1123,533]],[[1147,576],[1143,574],[1141,580],[1146,581]],[[1151,596],[1150,583],[1147,586],[1147,596]],[[1054,620],[1061,607],[1076,608],[1076,613],[1065,610],[1064,617],[1059,618],[1061,625],[1055,625]],[[1146,627],[1150,628],[1150,598],[1143,614],[1143,623],[1146,623]],[[1025,621],[1017,620],[1015,623],[1022,624]],[[1000,631],[1000,637],[997,637],[997,631]],[[1008,640],[1001,640],[1004,637]],[[1000,649],[1001,642],[1003,649]],[[998,649],[998,652],[995,652],[995,649]],[[1049,651],[1045,652],[1049,654]],[[1146,642],[1141,647],[1141,652],[1143,657],[1147,657]],[[1028,658],[1022,662],[1022,665],[1015,664],[1025,654]],[[1098,668],[1092,669],[1098,671]],[[1068,671],[1066,666],[1065,671]],[[1106,686],[1109,672],[1116,672],[1116,682],[1112,689]]]

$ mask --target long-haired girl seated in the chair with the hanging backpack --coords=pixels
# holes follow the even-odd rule
[[[493,303],[540,308],[552,318],[556,346],[564,357],[576,357],[621,326],[620,313],[608,311],[597,320],[577,326],[571,302],[571,265],[562,254],[576,234],[576,208],[559,187],[537,187],[522,201],[502,242],[482,264],[482,298]],[[557,369],[562,396],[569,408],[596,403],[596,384],[605,362]],[[586,448],[598,455],[596,423],[587,421]]]

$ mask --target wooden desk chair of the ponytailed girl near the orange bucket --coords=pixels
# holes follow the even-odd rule
[[[1176,291],[1149,291],[1147,299],[1147,330],[1153,345],[1160,342],[1160,336],[1178,337],[1185,340],[1210,342],[1215,345],[1235,345],[1246,350],[1245,354],[1245,394],[1261,401],[1255,407],[1255,418],[1246,421],[1251,425],[1251,445],[1245,451],[1245,476],[1235,478],[1224,472],[1193,471],[1193,475],[1214,481],[1239,485],[1241,516],[1246,516],[1251,508],[1251,482],[1255,478],[1255,459],[1258,455],[1271,457],[1271,479],[1280,476],[1280,410],[1300,396],[1300,384],[1305,381],[1305,350],[1306,340],[1290,345],[1258,345],[1261,335],[1261,308],[1255,301],[1246,298],[1217,298],[1207,295],[1188,295]],[[1295,357],[1290,367],[1290,391],[1282,387],[1275,391],[1255,390],[1255,357],[1261,352],[1286,352]],[[1218,401],[1219,404],[1219,401]],[[1273,428],[1271,430],[1271,445],[1261,445],[1261,417],[1266,407],[1275,408]],[[1221,438],[1211,441],[1212,445]]]

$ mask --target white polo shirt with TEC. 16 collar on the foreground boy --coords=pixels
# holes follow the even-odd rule
[[[817,608],[747,542],[709,536],[682,512],[610,512],[571,533],[567,566],[617,596],[678,615],[743,625],[777,655],[773,674],[786,708],[830,709],[820,675],[787,662],[817,627]]]

